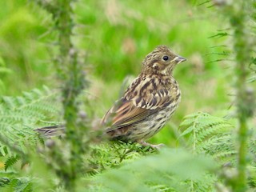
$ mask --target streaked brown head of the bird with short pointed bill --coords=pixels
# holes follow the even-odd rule
[[[174,54],[167,46],[158,46],[144,58],[142,73],[171,75],[174,67],[185,61],[186,58]]]

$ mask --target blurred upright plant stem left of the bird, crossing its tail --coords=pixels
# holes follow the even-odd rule
[[[59,30],[59,68],[64,67],[63,78],[63,110],[66,121],[66,141],[70,142],[70,172],[66,179],[66,190],[75,190],[75,180],[82,164],[82,134],[79,131],[78,122],[78,95],[84,87],[84,75],[78,63],[78,53],[71,42],[73,21],[71,18],[72,0],[59,0],[58,15]]]

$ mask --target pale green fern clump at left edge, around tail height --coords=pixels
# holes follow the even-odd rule
[[[37,126],[46,126],[46,120],[58,114],[57,94],[47,87],[43,90],[24,92],[22,96],[0,98],[0,157],[9,155],[6,169],[18,161],[18,156],[27,154],[30,146],[42,142],[34,131]],[[48,124],[49,125],[49,124]]]

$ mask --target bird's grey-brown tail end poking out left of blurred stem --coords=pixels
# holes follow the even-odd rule
[[[52,138],[54,136],[63,136],[65,134],[65,126],[46,126],[42,128],[35,129],[39,134],[42,134],[46,138]]]

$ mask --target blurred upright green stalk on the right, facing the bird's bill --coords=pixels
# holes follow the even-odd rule
[[[233,50],[235,55],[234,66],[234,88],[236,90],[236,114],[238,120],[238,133],[237,133],[237,146],[238,146],[238,162],[237,162],[237,175],[234,175],[235,182],[232,182],[232,191],[246,191],[247,190],[247,175],[246,156],[248,153],[248,120],[252,113],[251,93],[249,94],[249,88],[247,87],[247,76],[249,74],[250,64],[250,41],[248,37],[248,16],[249,4],[253,1],[223,1],[222,4],[216,4],[217,6],[224,6],[223,14],[226,18],[230,19],[230,26],[234,31],[233,38]],[[250,5],[252,6],[252,4]],[[251,92],[251,91],[250,91]]]

